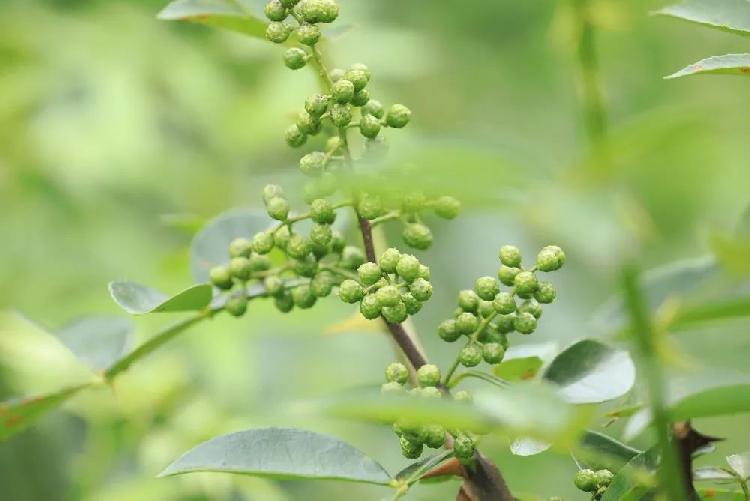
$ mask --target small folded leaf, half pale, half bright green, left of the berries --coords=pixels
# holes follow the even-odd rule
[[[209,284],[193,285],[169,297],[135,282],[110,282],[109,293],[122,309],[142,315],[202,310],[211,303],[213,288]]]

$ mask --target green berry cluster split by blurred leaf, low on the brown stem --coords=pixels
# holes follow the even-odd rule
[[[386,383],[382,386],[384,393],[409,395],[416,398],[451,398],[443,393],[440,384],[440,369],[436,365],[426,364],[417,370],[417,382],[409,390],[406,384],[409,371],[399,362],[393,362],[385,369]],[[471,401],[471,395],[466,391],[457,391],[452,398],[458,401]],[[455,429],[445,429],[438,424],[421,424],[400,419],[393,424],[393,431],[399,438],[401,452],[408,459],[417,459],[422,455],[424,447],[439,449],[445,445],[446,433],[453,437],[453,452],[456,458],[464,464],[469,464],[474,457],[476,436],[470,432]]]

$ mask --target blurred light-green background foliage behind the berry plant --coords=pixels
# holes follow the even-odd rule
[[[155,19],[163,0],[0,2],[0,307],[49,329],[117,314],[112,279],[176,292],[191,283],[196,225],[232,207],[260,206],[271,180],[297,179],[282,140],[315,89],[281,49],[197,25]],[[365,62],[372,90],[414,112],[392,155],[422,169],[465,205],[433,226],[420,253],[436,294],[416,319],[445,366],[455,346],[434,335],[456,292],[497,267],[503,243],[530,256],[565,247],[560,300],[534,342],[600,335],[589,322],[617,287],[625,259],[654,266],[699,256],[750,200],[750,94],[736,77],[663,81],[746,40],[648,15],[655,1],[596,0],[610,115],[606,158],[590,154],[581,120],[570,18],[562,0],[341,0],[351,25],[331,47],[342,66]],[[744,47],[743,47],[744,45]],[[182,224],[175,224],[181,221]],[[217,318],[124,375],[114,392],[76,397],[63,412],[0,444],[0,498],[27,500],[379,499],[387,489],[223,475],[155,476],[219,433],[286,424],[335,434],[405,464],[386,427],[289,411],[290,402],[379,383],[393,359],[382,335],[324,334],[351,309],[335,300],[277,314],[253,304]],[[15,313],[0,334],[33,332]],[[166,321],[169,321],[167,319]],[[137,320],[139,340],[164,319]],[[684,367],[747,370],[747,325],[675,338]],[[52,350],[52,351],[50,351]],[[58,388],[69,374],[54,347],[3,356],[0,396]],[[6,353],[7,355],[7,353]],[[699,420],[750,448],[746,417]],[[570,458],[516,458],[483,447],[519,492],[584,499]],[[544,476],[540,482],[539,475]],[[452,499],[456,482],[415,488]]]

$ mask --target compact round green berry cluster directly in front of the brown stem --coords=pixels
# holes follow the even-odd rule
[[[383,252],[377,263],[362,263],[357,279],[346,279],[339,286],[339,298],[359,303],[362,316],[370,320],[383,317],[393,324],[419,312],[431,297],[430,269],[394,248]]]

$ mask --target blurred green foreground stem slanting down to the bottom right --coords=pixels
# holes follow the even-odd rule
[[[630,314],[631,332],[638,347],[640,369],[643,379],[647,383],[651,415],[654,419],[659,448],[661,449],[661,464],[658,470],[659,483],[667,499],[683,501],[688,499],[684,487],[687,479],[684,478],[680,469],[677,450],[671,440],[669,414],[664,404],[664,380],[657,358],[654,331],[641,292],[639,273],[634,266],[625,267],[623,288]],[[691,491],[692,488],[689,490]]]

